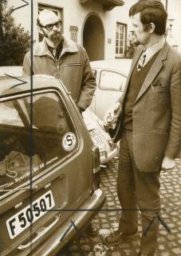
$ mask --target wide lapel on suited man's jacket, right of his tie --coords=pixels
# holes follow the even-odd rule
[[[170,46],[166,42],[162,50],[160,50],[159,55],[155,59],[155,62],[152,64],[151,69],[149,70],[148,75],[144,80],[143,86],[141,86],[140,92],[136,98],[136,102],[144,94],[144,92],[148,90],[148,87],[151,86],[151,82],[153,82],[156,75],[159,74],[159,70],[161,70],[163,66],[163,61],[167,58],[167,51],[169,50],[169,47]]]

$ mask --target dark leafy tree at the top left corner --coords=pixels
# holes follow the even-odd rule
[[[12,17],[7,0],[0,0],[0,66],[19,66],[30,49],[30,33]]]

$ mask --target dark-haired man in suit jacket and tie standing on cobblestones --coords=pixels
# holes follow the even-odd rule
[[[129,10],[139,45],[122,98],[105,114],[120,140],[117,193],[120,226],[104,239],[116,245],[137,232],[138,255],[156,255],[159,230],[159,174],[175,166],[181,145],[181,56],[165,42],[167,13],[157,0],[140,0]],[[118,114],[120,113],[120,114]]]

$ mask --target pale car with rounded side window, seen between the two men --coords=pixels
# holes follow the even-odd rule
[[[89,108],[101,120],[123,94],[131,63],[128,58],[91,62],[97,88]]]

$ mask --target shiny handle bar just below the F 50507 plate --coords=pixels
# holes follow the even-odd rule
[[[37,230],[37,236],[33,238],[30,242],[27,242],[25,245],[19,245],[18,250],[26,250],[28,247],[30,247],[34,242],[36,242],[39,238],[41,238],[46,232],[51,230],[53,226],[57,224],[59,221],[61,215],[56,216],[55,220],[47,227],[43,226],[41,227],[41,230]]]

